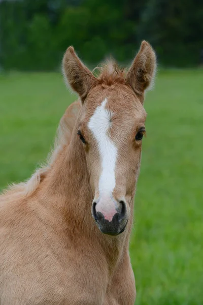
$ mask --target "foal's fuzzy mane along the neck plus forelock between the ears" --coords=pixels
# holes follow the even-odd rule
[[[125,83],[125,71],[124,69],[120,68],[114,62],[114,60],[109,60],[106,65],[96,67],[94,70],[96,69],[98,71],[96,77],[98,79],[99,84],[111,86],[114,84]],[[57,158],[59,151],[62,149],[62,147],[69,146],[71,142],[73,128],[75,126],[76,119],[81,107],[81,101],[78,100],[72,103],[66,109],[65,113],[60,119],[56,138],[54,141],[54,148],[49,153],[44,165],[36,169],[32,176],[24,182],[10,185],[5,191],[3,191],[3,195],[21,193],[23,196],[29,196],[36,191],[36,189],[40,185],[40,182],[42,182],[48,174],[52,164]]]

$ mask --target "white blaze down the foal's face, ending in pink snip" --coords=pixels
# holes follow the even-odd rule
[[[100,205],[99,211],[103,212],[106,219],[112,220],[116,213],[115,203],[112,200],[112,193],[116,185],[115,164],[117,157],[117,148],[113,141],[108,136],[108,131],[111,128],[112,113],[105,108],[107,98],[98,106],[91,116],[88,128],[93,133],[99,149],[101,158],[101,175],[99,177],[99,197],[97,208]],[[105,205],[105,206],[104,206]]]

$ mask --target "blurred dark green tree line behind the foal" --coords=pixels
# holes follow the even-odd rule
[[[196,66],[203,49],[202,0],[0,0],[0,64],[53,70],[67,46],[87,63],[111,53],[128,62],[148,40],[159,64]]]

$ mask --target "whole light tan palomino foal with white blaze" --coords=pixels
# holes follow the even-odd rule
[[[134,304],[128,243],[155,65],[143,41],[127,73],[109,63],[96,78],[67,49],[80,101],[47,166],[0,197],[1,305]]]

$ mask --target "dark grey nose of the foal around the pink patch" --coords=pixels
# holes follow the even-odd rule
[[[119,208],[116,209],[117,213],[113,216],[112,221],[105,219],[101,212],[96,211],[96,202],[92,204],[92,216],[96,221],[99,230],[108,235],[118,235],[125,230],[127,225],[127,208],[126,203],[119,201]]]

